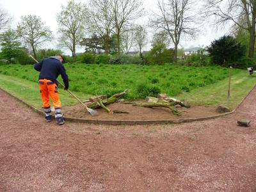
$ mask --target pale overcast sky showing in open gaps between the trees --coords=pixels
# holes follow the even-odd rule
[[[88,3],[89,0],[75,0],[76,2]],[[144,18],[141,18],[141,22],[145,22],[147,20],[147,15],[152,11],[156,11],[156,3],[157,0],[142,0],[143,6],[145,10],[147,10],[147,14]],[[200,2],[200,1],[198,1]],[[58,23],[56,22],[56,15],[61,10],[61,5],[66,6],[68,0],[0,0],[0,7],[4,8],[10,15],[13,17],[12,26],[13,28],[17,26],[18,22],[20,22],[20,17],[22,15],[36,15],[40,16],[42,21],[45,22],[45,26],[48,26],[55,36],[54,42],[51,44],[45,45],[45,48],[58,48],[56,47],[56,37],[57,37],[57,29]],[[150,33],[154,31],[152,29],[149,30]],[[205,22],[201,27],[200,33],[196,36],[195,39],[182,39],[180,40],[179,47],[191,48],[191,47],[205,47],[213,40],[220,38],[223,35],[228,34],[228,28],[221,28],[216,31],[215,26],[211,25],[211,22]],[[171,45],[172,47],[172,45]],[[150,45],[148,45],[145,49],[150,49]],[[64,51],[64,50],[63,50]],[[148,51],[148,50],[144,50]],[[78,52],[83,52],[83,49],[78,49]],[[70,51],[65,51],[66,54],[71,54]]]

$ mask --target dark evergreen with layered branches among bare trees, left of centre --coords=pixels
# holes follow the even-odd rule
[[[83,40],[80,42],[80,45],[85,46],[86,52],[100,53],[102,50],[104,50],[103,42],[104,41],[102,38],[96,34],[93,34],[90,38],[83,38]]]

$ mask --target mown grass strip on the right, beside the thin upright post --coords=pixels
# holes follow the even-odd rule
[[[189,93],[181,93],[178,97],[193,105],[217,106],[224,104],[228,108],[234,109],[252,90],[255,81],[256,76],[250,76],[246,70],[243,70],[232,76],[230,98],[228,98],[228,78],[202,88],[196,88]]]

